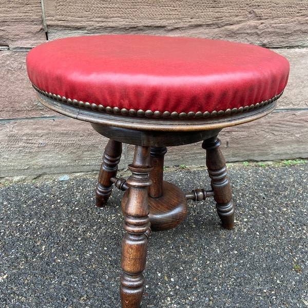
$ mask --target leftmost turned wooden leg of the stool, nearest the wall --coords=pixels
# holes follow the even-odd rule
[[[95,190],[96,206],[98,207],[106,206],[107,200],[111,195],[112,182],[110,179],[117,175],[121,153],[122,143],[110,139],[105,147],[99,182]]]

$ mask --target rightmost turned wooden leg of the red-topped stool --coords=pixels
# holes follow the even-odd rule
[[[211,187],[214,191],[216,208],[222,226],[226,229],[234,227],[234,205],[230,182],[227,178],[226,161],[219,149],[220,140],[217,137],[204,140],[202,147],[206,149],[206,165]]]

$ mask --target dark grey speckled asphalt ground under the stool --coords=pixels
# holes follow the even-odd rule
[[[308,307],[308,164],[228,168],[236,227],[213,199],[153,233],[142,307]],[[185,191],[205,170],[166,172]],[[94,177],[0,187],[0,306],[119,307],[122,192],[94,207]]]

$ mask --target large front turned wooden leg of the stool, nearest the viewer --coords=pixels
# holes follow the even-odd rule
[[[122,241],[120,295],[123,308],[137,308],[141,303],[144,290],[146,250],[148,241],[149,203],[148,187],[150,148],[136,146],[134,159],[129,169],[132,175],[127,180],[129,195],[125,204],[124,229]]]

